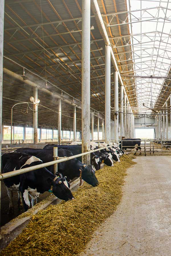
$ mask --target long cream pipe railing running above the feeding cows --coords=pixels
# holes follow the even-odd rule
[[[27,173],[29,171],[34,171],[34,170],[37,170],[37,169],[40,169],[40,168],[43,168],[43,167],[47,167],[47,166],[50,166],[50,165],[66,162],[66,161],[69,161],[71,159],[83,156],[83,155],[87,155],[87,154],[90,154],[90,153],[93,153],[93,152],[96,152],[96,151],[100,151],[102,149],[106,149],[106,148],[110,148],[112,146],[118,146],[118,145],[119,144],[110,145],[110,146],[103,147],[103,148],[98,148],[98,149],[93,149],[93,150],[89,150],[89,151],[87,151],[85,153],[81,153],[81,154],[78,154],[78,155],[73,155],[73,156],[70,156],[70,157],[62,157],[62,159],[51,161],[51,162],[47,162],[47,163],[42,163],[42,164],[39,164],[39,165],[36,165],[36,166],[31,166],[31,167],[23,168],[23,169],[11,171],[11,172],[8,172],[8,173],[1,173],[0,174],[0,181],[3,180],[3,179],[7,179],[9,177],[17,176],[17,175],[22,174],[22,173]]]

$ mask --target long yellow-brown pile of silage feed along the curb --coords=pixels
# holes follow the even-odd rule
[[[121,201],[126,170],[135,164],[132,159],[132,155],[123,155],[121,163],[96,172],[97,187],[84,183],[74,192],[75,200],[50,205],[38,212],[0,255],[73,256],[80,253],[92,232]]]

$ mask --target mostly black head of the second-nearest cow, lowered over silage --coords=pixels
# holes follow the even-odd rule
[[[80,167],[80,171],[82,171],[82,179],[86,181],[88,184],[96,187],[99,185],[97,178],[95,177],[95,173],[92,169],[92,165],[82,165]]]

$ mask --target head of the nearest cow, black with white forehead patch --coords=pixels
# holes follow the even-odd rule
[[[68,201],[74,200],[72,192],[70,191],[70,183],[66,181],[66,176],[62,177],[62,174],[56,176],[53,181],[48,180],[51,185],[51,190],[53,194],[58,197],[59,199]]]

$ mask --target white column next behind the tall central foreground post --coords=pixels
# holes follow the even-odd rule
[[[105,143],[110,143],[111,137],[111,46],[105,45]]]

